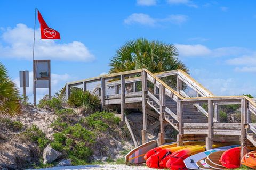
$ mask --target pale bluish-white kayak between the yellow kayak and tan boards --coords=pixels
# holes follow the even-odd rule
[[[225,151],[228,150],[230,148],[235,148],[235,147],[239,147],[240,145],[230,145],[230,146],[225,146],[225,147],[219,147],[219,148],[215,148],[215,149],[211,149],[211,150],[207,150],[205,152],[201,152],[195,155],[192,155],[188,158],[186,158],[184,160],[184,163],[186,165],[186,167],[188,169],[198,169],[198,166],[196,165],[196,162],[198,160],[201,160],[203,158],[206,158],[209,154],[213,153],[213,152],[217,152],[217,151]]]

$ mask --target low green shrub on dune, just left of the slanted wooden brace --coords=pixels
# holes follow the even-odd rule
[[[98,111],[85,117],[85,122],[90,128],[100,131],[106,131],[109,126],[117,125],[120,121],[120,118],[115,117],[114,113],[107,111]]]

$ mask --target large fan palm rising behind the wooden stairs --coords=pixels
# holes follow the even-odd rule
[[[109,73],[142,68],[153,73],[176,69],[188,73],[185,64],[178,59],[178,50],[173,44],[143,38],[127,41],[117,50],[109,66],[111,67]],[[176,78],[164,78],[164,81],[171,87],[175,87]]]

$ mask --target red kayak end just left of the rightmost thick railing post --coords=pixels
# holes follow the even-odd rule
[[[231,148],[225,151],[220,157],[221,164],[228,169],[239,168],[240,151],[240,147]]]

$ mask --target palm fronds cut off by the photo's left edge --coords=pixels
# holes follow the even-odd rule
[[[7,75],[5,66],[0,63],[0,116],[15,116],[20,112],[18,88]]]

